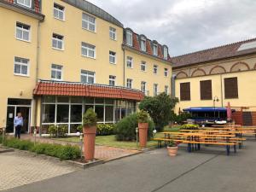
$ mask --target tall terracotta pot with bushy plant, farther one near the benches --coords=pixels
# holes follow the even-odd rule
[[[145,148],[148,141],[148,113],[141,110],[137,114],[140,147]]]

